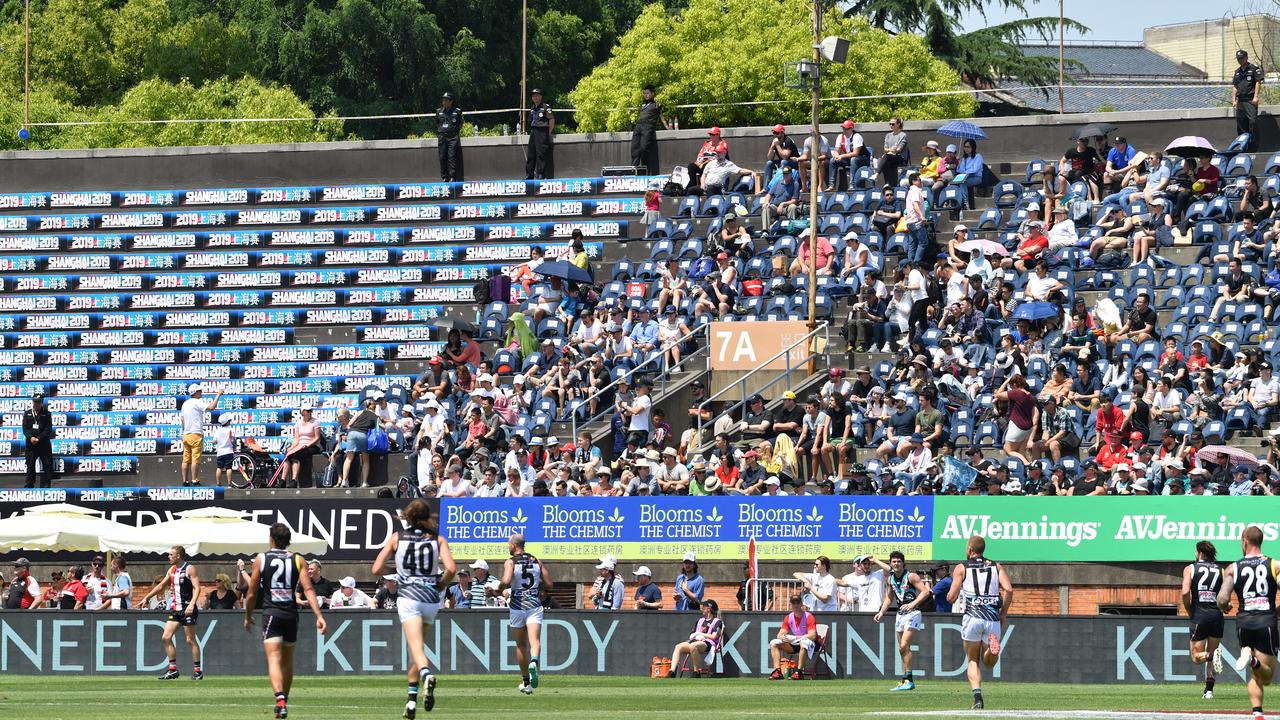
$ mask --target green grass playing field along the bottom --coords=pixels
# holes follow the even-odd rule
[[[1219,687],[1212,701],[1198,684],[1066,685],[988,683],[987,711],[970,714],[969,688],[957,682],[922,680],[909,693],[888,693],[882,680],[767,682],[763,679],[584,678],[544,675],[530,697],[516,691],[508,675],[442,676],[435,710],[419,717],[635,717],[652,720],[671,712],[691,720],[732,717],[920,717],[975,715],[1034,720],[1190,720],[1238,716],[1249,708],[1239,683]],[[403,678],[300,678],[289,701],[289,717],[307,720],[394,719],[404,705]],[[1280,689],[1276,702],[1280,707]],[[1087,712],[1096,711],[1096,712]],[[1121,715],[1123,711],[1138,711]],[[520,715],[515,715],[518,712]],[[0,716],[41,720],[165,720],[271,717],[265,678],[209,678],[195,683],[163,683],[138,676],[0,676]]]

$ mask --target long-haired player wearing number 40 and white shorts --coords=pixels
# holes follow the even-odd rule
[[[404,521],[404,529],[393,534],[383,546],[374,561],[374,575],[380,577],[390,570],[392,557],[396,559],[396,582],[399,585],[396,611],[401,618],[404,643],[413,657],[408,669],[404,717],[413,720],[417,715],[419,688],[425,688],[422,710],[430,712],[435,707],[435,675],[428,665],[422,638],[425,626],[434,623],[440,611],[442,588],[449,585],[458,566],[453,562],[449,542],[440,534],[426,501],[410,502],[401,512],[401,520]]]

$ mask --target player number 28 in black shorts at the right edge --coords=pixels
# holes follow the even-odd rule
[[[1253,719],[1262,720],[1262,688],[1271,684],[1276,671],[1277,570],[1276,561],[1262,555],[1262,530],[1257,525],[1244,528],[1240,555],[1244,557],[1226,568],[1222,589],[1217,591],[1217,606],[1230,610],[1231,593],[1235,593],[1240,607],[1235,616],[1235,635],[1240,641],[1235,669],[1249,667]]]

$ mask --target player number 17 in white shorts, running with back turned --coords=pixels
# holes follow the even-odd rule
[[[998,562],[983,557],[987,541],[982,536],[969,538],[965,548],[968,560],[957,564],[951,573],[951,591],[947,601],[964,596],[964,620],[960,621],[960,639],[969,659],[969,687],[973,689],[973,710],[986,707],[982,700],[982,667],[995,667],[1000,661],[1001,623],[1009,616],[1014,603],[1014,585]],[[983,642],[986,641],[986,642]]]

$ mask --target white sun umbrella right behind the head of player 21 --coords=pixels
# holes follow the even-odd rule
[[[227,507],[201,507],[178,512],[175,520],[124,528],[102,537],[101,548],[115,552],[166,552],[175,544],[189,555],[246,555],[268,548],[270,525],[247,520],[246,512]],[[302,533],[293,533],[289,550],[324,553],[329,543]]]

